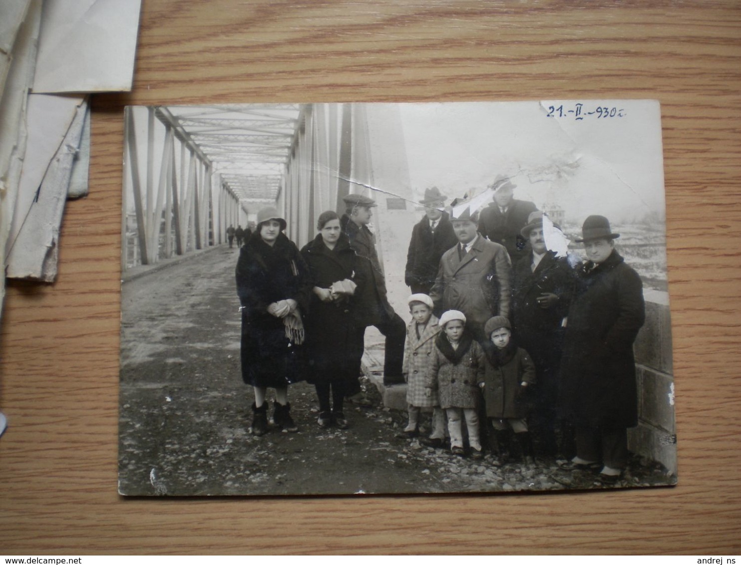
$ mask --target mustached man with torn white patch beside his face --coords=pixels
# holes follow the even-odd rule
[[[553,224],[556,230],[561,228]],[[543,213],[536,210],[520,235],[530,242],[528,253],[512,267],[512,330],[519,347],[530,353],[537,386],[533,427],[539,449],[548,456],[559,453],[556,429],[562,432],[561,453],[574,456],[574,432],[556,418],[559,366],[563,347],[563,321],[574,295],[575,275],[565,257],[549,250],[543,235]]]

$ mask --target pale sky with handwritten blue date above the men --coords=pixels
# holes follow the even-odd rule
[[[562,106],[562,117],[548,117],[551,106],[554,114]],[[607,112],[598,107],[622,110],[622,117],[602,117]],[[401,114],[418,195],[436,185],[454,198],[505,174],[517,185],[515,198],[538,207],[551,201],[574,221],[595,213],[614,221],[665,214],[656,101],[402,104]]]

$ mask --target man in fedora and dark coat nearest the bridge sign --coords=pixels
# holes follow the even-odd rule
[[[404,275],[413,294],[430,294],[442,254],[458,241],[450,215],[442,210],[447,199],[438,187],[432,187],[425,190],[425,198],[420,202],[425,205],[425,215],[412,228]]]

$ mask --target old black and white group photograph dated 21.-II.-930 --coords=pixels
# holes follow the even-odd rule
[[[657,101],[124,119],[122,495],[677,483]]]

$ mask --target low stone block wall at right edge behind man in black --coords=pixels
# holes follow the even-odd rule
[[[646,321],[634,346],[638,379],[638,427],[628,432],[632,452],[677,473],[674,367],[667,292],[645,290]]]

